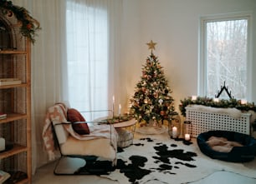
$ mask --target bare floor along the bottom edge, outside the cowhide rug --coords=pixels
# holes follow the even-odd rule
[[[97,176],[55,176],[55,162],[41,167],[33,176],[33,184],[116,184],[119,182],[110,181],[109,179]],[[186,174],[185,174],[186,175]],[[170,183],[176,184],[170,180]],[[191,184],[255,184],[256,179],[243,177],[232,172],[215,172],[212,175],[203,178]],[[120,182],[120,184],[122,184]],[[156,183],[154,183],[156,184]]]

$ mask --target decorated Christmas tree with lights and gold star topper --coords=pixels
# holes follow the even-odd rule
[[[151,49],[151,54],[143,65],[141,81],[136,84],[136,92],[130,100],[131,114],[138,122],[170,120],[172,116],[177,115],[173,106],[172,91],[168,87],[158,58],[152,52],[156,43],[151,41],[146,44]]]

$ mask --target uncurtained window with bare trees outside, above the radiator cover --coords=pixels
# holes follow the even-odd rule
[[[201,23],[200,95],[215,97],[225,84],[236,99],[248,99],[249,16],[205,17]]]

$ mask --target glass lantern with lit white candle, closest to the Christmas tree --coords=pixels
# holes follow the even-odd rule
[[[168,122],[168,133],[169,136],[173,139],[176,139],[181,134],[181,117],[175,115],[172,117],[172,120]]]

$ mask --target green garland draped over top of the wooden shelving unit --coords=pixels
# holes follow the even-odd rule
[[[28,10],[24,7],[18,7],[13,5],[12,1],[0,0],[0,7],[2,7],[3,14],[11,17],[14,15],[17,17],[18,22],[21,23],[20,32],[24,37],[34,43],[36,32],[41,29],[40,23],[29,15]]]

